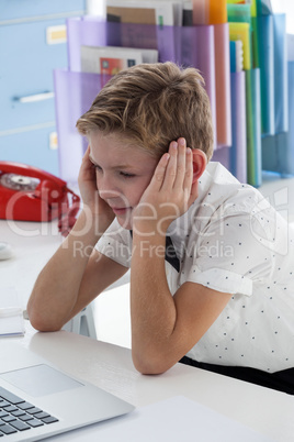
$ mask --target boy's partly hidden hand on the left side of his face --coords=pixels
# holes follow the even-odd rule
[[[90,146],[83,155],[79,172],[79,189],[83,206],[88,207],[94,217],[101,219],[101,228],[106,229],[114,219],[114,213],[109,205],[99,196],[95,181],[95,168],[89,158]]]

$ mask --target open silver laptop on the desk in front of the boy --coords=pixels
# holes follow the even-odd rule
[[[39,441],[125,415],[115,396],[68,376],[10,340],[1,342],[0,440]]]

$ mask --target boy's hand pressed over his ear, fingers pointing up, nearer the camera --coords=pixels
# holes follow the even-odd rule
[[[196,197],[192,151],[184,139],[172,141],[134,211],[133,230],[165,235],[169,224],[186,212]]]

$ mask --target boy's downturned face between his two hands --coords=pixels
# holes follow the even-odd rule
[[[149,185],[158,161],[129,145],[120,134],[89,136],[100,197],[124,229],[132,229],[133,211]]]

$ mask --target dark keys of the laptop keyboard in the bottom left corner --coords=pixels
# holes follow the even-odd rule
[[[58,419],[0,387],[0,438],[58,422]]]

